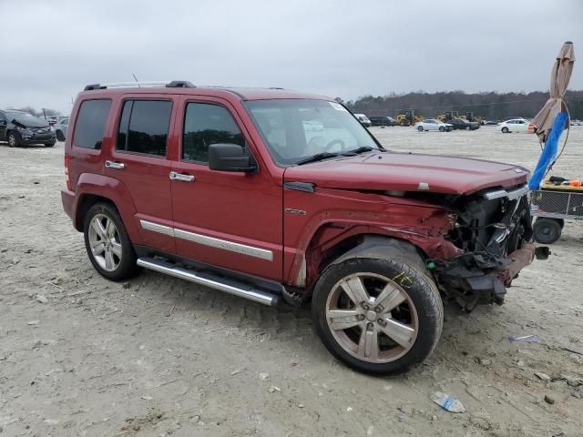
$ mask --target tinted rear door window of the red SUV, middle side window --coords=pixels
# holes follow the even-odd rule
[[[127,100],[119,120],[120,151],[166,156],[172,102]]]

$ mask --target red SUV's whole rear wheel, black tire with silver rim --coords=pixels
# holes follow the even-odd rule
[[[101,223],[100,229],[95,226],[94,220]],[[114,229],[110,228],[111,225]],[[118,281],[129,279],[138,273],[136,252],[118,210],[113,205],[97,203],[89,208],[83,234],[87,256],[101,276]],[[98,244],[102,246],[97,247]],[[97,249],[91,249],[92,246]]]

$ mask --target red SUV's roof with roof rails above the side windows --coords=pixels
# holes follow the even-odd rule
[[[89,89],[87,89],[89,88]],[[127,86],[127,87],[103,87],[99,84],[86,86],[83,96],[93,94],[100,96],[119,95],[127,93],[138,94],[181,94],[189,96],[213,96],[213,97],[239,97],[240,100],[269,100],[279,98],[307,98],[333,101],[331,97],[302,93],[283,88],[255,88],[238,86]]]

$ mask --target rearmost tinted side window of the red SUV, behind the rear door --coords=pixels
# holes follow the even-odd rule
[[[100,148],[106,131],[107,114],[111,100],[86,100],[77,114],[77,124],[73,136],[76,147]]]

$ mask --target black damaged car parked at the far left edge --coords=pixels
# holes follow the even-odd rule
[[[0,141],[8,146],[44,144],[53,147],[56,143],[55,129],[46,120],[15,109],[0,110]]]

